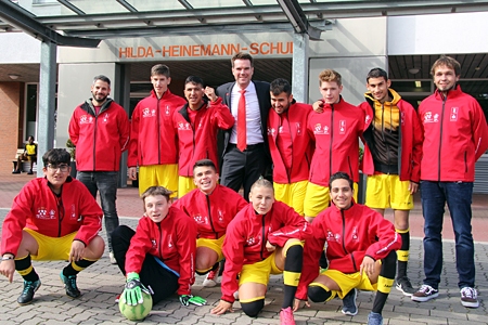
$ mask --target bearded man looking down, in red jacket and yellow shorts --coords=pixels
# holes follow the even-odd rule
[[[312,106],[293,99],[292,86],[279,78],[270,84],[268,142],[273,161],[274,198],[304,216],[313,147],[307,132]]]

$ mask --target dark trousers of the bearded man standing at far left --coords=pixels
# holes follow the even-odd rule
[[[113,250],[111,234],[118,226],[117,208],[115,206],[117,199],[117,176],[118,171],[78,171],[76,174],[78,181],[87,186],[95,199],[97,192],[100,192],[110,251]]]

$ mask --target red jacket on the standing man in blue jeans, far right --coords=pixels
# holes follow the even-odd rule
[[[419,118],[424,134],[421,180],[474,182],[475,162],[488,148],[488,128],[478,102],[450,90],[422,101]]]

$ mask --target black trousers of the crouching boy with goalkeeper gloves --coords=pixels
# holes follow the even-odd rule
[[[136,232],[127,225],[119,225],[112,232],[114,256],[124,275],[126,275],[126,253],[134,234]],[[178,276],[164,269],[150,253],[145,256],[139,277],[141,283],[153,291],[153,304],[170,297],[178,290]]]

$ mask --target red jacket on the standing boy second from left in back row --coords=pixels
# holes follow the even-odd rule
[[[172,127],[172,114],[187,103],[169,89],[157,99],[151,91],[139,102],[130,125],[127,166],[150,166],[178,162],[178,139]]]

